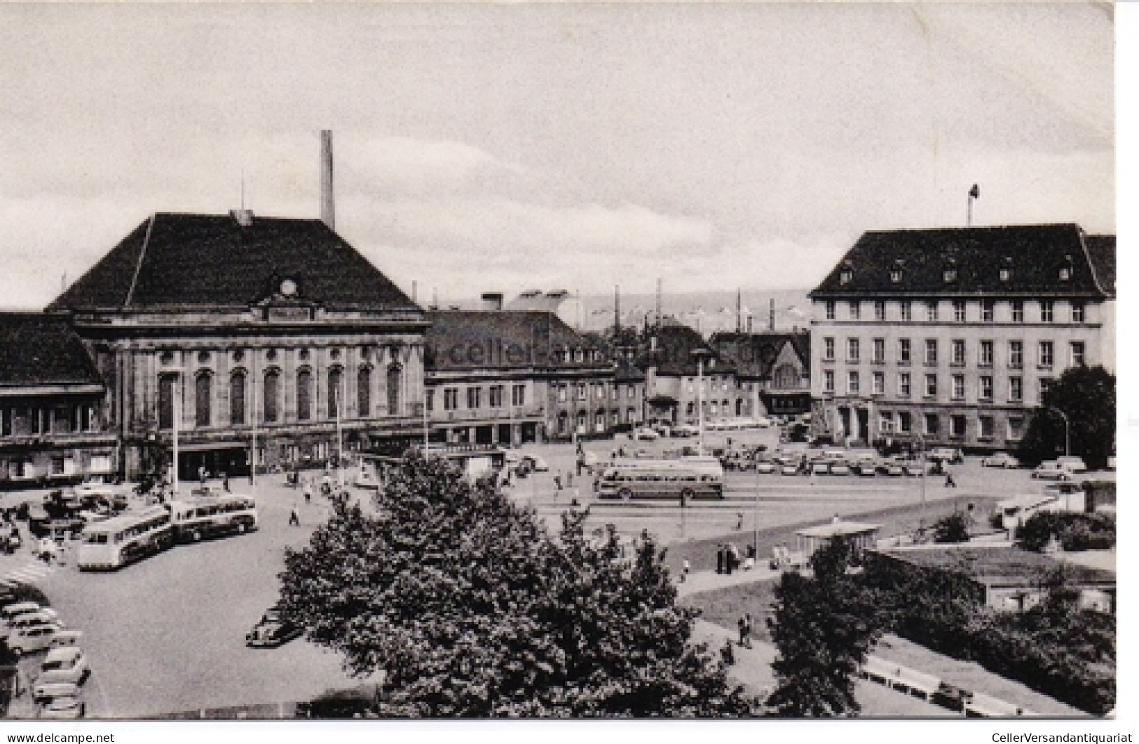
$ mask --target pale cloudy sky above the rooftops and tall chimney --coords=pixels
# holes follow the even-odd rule
[[[0,305],[154,212],[319,215],[423,301],[809,288],[870,229],[1115,231],[1103,5],[0,7]]]

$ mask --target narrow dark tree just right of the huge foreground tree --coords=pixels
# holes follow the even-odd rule
[[[858,714],[858,670],[882,622],[875,592],[847,574],[850,559],[850,543],[834,539],[811,557],[813,575],[787,572],[776,586],[769,626],[777,686],[767,701],[776,716]]]

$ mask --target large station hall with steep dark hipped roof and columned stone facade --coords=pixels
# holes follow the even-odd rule
[[[65,291],[116,469],[321,461],[423,433],[425,313],[319,220],[155,214]]]

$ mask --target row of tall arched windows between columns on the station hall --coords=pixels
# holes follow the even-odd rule
[[[400,393],[402,385],[402,368],[392,365],[387,368],[387,412],[400,412]],[[277,368],[268,369],[261,377],[262,417],[261,422],[274,424],[281,419],[281,385],[282,373]],[[316,415],[313,402],[317,395],[317,379],[308,367],[298,369],[294,376],[293,390],[296,400],[296,418],[298,422],[311,420]],[[247,423],[246,393],[249,385],[248,374],[237,369],[229,376],[229,424],[244,426]],[[371,404],[372,368],[360,367],[357,370],[357,411],[359,418],[372,415]],[[162,375],[158,378],[158,426],[169,430],[174,427],[174,399],[178,391],[178,375]],[[328,396],[327,417],[335,420],[342,415],[341,401],[345,394],[344,369],[333,367],[326,376],[325,392]],[[214,425],[214,374],[202,370],[194,377],[194,425],[210,427]],[[180,423],[180,425],[182,425]]]

